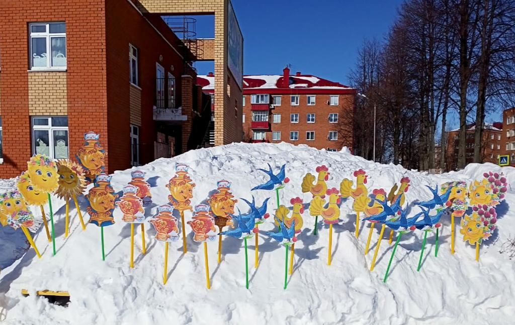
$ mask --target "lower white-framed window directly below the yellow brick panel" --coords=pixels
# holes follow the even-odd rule
[[[32,153],[68,158],[68,117],[32,117]]]

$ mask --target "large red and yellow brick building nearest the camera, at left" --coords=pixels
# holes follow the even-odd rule
[[[215,39],[179,39],[163,19],[192,13],[215,15]],[[241,139],[234,21],[228,0],[0,2],[0,178],[25,170],[33,153],[73,158],[88,131],[100,134],[109,172],[201,146],[211,108],[195,60],[215,61],[220,75],[216,144]]]

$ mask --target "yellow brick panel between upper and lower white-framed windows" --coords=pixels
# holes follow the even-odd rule
[[[28,74],[29,115],[67,115],[66,73]]]

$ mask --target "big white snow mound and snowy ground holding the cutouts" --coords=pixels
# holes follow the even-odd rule
[[[220,179],[232,182],[236,197],[256,197],[256,203],[271,197],[268,211],[276,208],[274,192],[250,189],[266,182],[266,174],[256,168],[278,168],[286,163],[291,181],[280,191],[282,204],[289,206],[295,196],[311,200],[301,192],[307,172],[319,165],[331,172],[328,185],[339,188],[342,178],[351,178],[359,168],[367,171],[368,188],[387,191],[409,176],[411,187],[406,195],[409,215],[419,212],[417,200],[432,197],[424,185],[435,186],[450,180],[480,179],[484,172],[500,172],[492,164],[469,165],[464,171],[427,175],[400,166],[374,164],[346,151],[326,152],[286,143],[233,144],[187,152],[170,159],[158,159],[140,167],[152,185],[154,205],[167,203],[165,184],[175,173],[177,163],[190,165],[196,183],[192,204],[199,204],[216,188]],[[509,184],[515,181],[515,169],[503,168]],[[112,186],[121,191],[130,180],[130,170],[113,174]],[[2,185],[6,185],[4,181]],[[85,198],[79,199],[85,216]],[[434,237],[428,236],[423,266],[417,272],[422,246],[422,232],[403,236],[397,249],[387,283],[383,276],[393,245],[383,240],[377,263],[369,272],[372,252],[364,255],[369,224],[361,224],[359,239],[354,236],[355,215],[352,200],[341,206],[341,222],[334,226],[333,261],[327,265],[328,227],[313,236],[314,218],[304,213],[305,229],[295,249],[295,268],[283,289],[284,248],[265,236],[273,229],[268,221],[260,226],[260,265],[254,268],[253,240],[249,241],[250,287],[245,288],[243,242],[233,238],[223,241],[223,260],[217,264],[217,242],[208,243],[212,288],[205,287],[202,247],[192,241],[186,225],[188,252],[183,255],[182,241],[170,244],[168,283],[162,284],[164,243],[153,239],[153,228],[146,224],[147,253],[141,252],[139,228],[135,236],[135,267],[129,268],[130,226],[115,211],[116,223],[105,228],[106,261],[100,252],[100,229],[89,224],[82,231],[77,213],[71,207],[71,233],[64,238],[64,203],[54,198],[57,255],[44,232],[36,243],[43,254],[38,259],[31,249],[0,275],[0,321],[10,324],[480,324],[513,323],[515,315],[515,264],[501,245],[515,234],[515,195],[508,188],[505,202],[499,206],[498,229],[493,239],[482,245],[480,262],[474,260],[473,246],[462,242],[456,233],[456,254],[450,253],[450,220],[443,220],[438,257],[434,257]],[[237,207],[247,211],[239,200]],[[34,210],[39,215],[39,210]],[[185,212],[186,221],[191,212]],[[375,227],[371,248],[379,237]],[[459,226],[457,227],[459,229]],[[387,234],[385,233],[385,238]],[[22,288],[31,295],[23,297]],[[37,298],[36,290],[62,290],[71,294],[67,308]]]

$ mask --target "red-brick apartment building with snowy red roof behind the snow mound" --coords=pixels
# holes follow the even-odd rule
[[[213,74],[198,76],[204,92],[213,92]],[[281,141],[352,150],[356,89],[312,75],[244,76],[243,132],[248,142]]]

